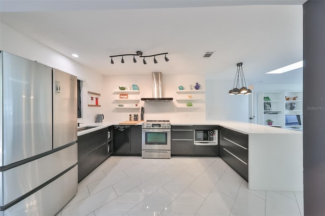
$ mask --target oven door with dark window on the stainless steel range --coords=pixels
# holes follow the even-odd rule
[[[171,150],[171,130],[142,129],[142,150]]]

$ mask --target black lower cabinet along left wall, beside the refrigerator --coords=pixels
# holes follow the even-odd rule
[[[108,157],[108,128],[78,136],[78,183]]]

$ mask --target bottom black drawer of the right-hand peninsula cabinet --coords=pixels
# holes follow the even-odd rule
[[[248,182],[248,164],[240,161],[238,158],[236,158],[235,154],[226,148],[220,148],[219,154],[226,164],[232,167],[240,176],[245,179],[246,182]]]

